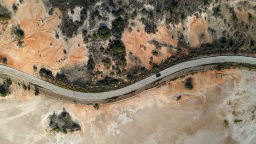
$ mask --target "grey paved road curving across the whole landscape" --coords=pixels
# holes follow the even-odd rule
[[[53,93],[56,93],[56,94],[61,94],[61,95],[65,95],[67,97],[72,97],[72,98],[75,95],[75,98],[84,99],[84,100],[99,100],[99,99],[106,99],[106,98],[116,97],[119,95],[130,93],[130,92],[135,91],[136,89],[139,89],[143,86],[146,86],[156,80],[159,80],[162,77],[171,75],[171,74],[176,73],[177,71],[180,71],[183,69],[197,67],[197,66],[200,66],[203,64],[213,64],[213,63],[223,63],[223,62],[238,62],[238,63],[256,64],[256,58],[245,57],[245,56],[216,56],[216,57],[206,57],[206,58],[195,59],[192,61],[183,62],[183,63],[173,65],[170,68],[160,71],[160,73],[161,73],[160,77],[156,77],[155,75],[152,75],[152,76],[147,77],[146,79],[143,79],[141,81],[133,83],[130,86],[120,88],[115,91],[102,92],[102,93],[82,93],[82,92],[71,91],[69,89],[61,88],[59,86],[53,85],[44,80],[38,79],[37,77],[34,77],[32,75],[26,74],[20,70],[10,68],[10,67],[4,66],[4,65],[0,65],[0,72],[10,74],[13,76],[18,76],[28,82],[33,83],[34,85],[38,85],[40,87],[49,89]]]

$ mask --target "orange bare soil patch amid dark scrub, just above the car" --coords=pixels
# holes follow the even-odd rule
[[[153,63],[160,64],[161,61],[165,60],[167,57],[174,55],[174,53],[171,53],[164,47],[159,56],[154,56],[152,51],[156,50],[156,47],[148,43],[150,40],[155,39],[159,40],[160,43],[170,44],[174,47],[177,46],[177,40],[171,39],[171,34],[165,26],[158,26],[158,32],[156,32],[156,34],[148,34],[144,31],[144,27],[142,27],[138,21],[134,22],[136,22],[137,29],[133,28],[131,32],[129,29],[125,29],[122,35],[122,40],[126,49],[127,69],[130,69],[134,65],[129,58],[130,52],[132,52],[133,55],[138,56],[144,67],[147,69],[152,67],[149,64],[150,57],[153,57]],[[139,31],[137,31],[138,29]]]

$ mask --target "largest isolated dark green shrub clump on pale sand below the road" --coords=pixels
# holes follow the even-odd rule
[[[49,119],[49,128],[51,131],[67,134],[81,130],[80,125],[78,123],[75,123],[72,120],[72,117],[66,111],[61,112],[60,115],[57,115],[54,112],[53,115],[49,116]]]

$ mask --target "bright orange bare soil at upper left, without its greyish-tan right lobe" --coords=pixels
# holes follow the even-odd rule
[[[55,11],[59,13],[57,9]],[[13,23],[20,25],[25,33],[25,38],[22,40],[25,47],[16,45],[18,41],[11,39],[9,28],[0,41],[1,56],[7,57],[7,64],[29,74],[34,74],[34,64],[38,67],[43,65],[53,71],[59,70],[61,65],[58,61],[65,56],[63,54],[64,41],[55,39],[55,29],[61,22],[58,15],[54,13],[53,16],[49,16],[45,12],[42,1],[27,0],[25,4],[20,4],[8,27],[11,27]]]

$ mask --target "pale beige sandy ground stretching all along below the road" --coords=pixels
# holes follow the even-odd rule
[[[193,90],[184,89],[193,77]],[[0,99],[1,143],[255,143],[256,71],[202,71],[118,103],[92,106],[32,96],[13,84]],[[177,97],[182,95],[181,100]],[[48,134],[63,107],[82,131]],[[226,126],[223,121],[228,121]],[[234,123],[234,119],[242,119]]]

